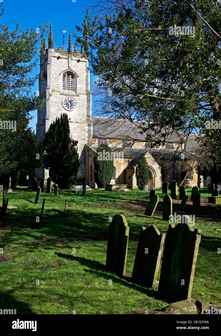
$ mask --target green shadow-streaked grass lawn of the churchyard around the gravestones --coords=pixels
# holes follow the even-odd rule
[[[191,190],[188,189],[188,196]],[[162,190],[154,217],[143,216],[149,192],[87,191],[86,196],[71,190],[58,196],[16,191],[8,194],[7,210],[0,218],[0,308],[16,309],[17,314],[119,314],[146,307],[161,309],[167,302],[157,298],[157,286],[143,288],[131,283],[133,263],[141,226],[155,224],[167,232],[162,220]],[[192,288],[196,299],[221,304],[221,206],[207,203],[207,188],[201,189],[202,206],[194,209],[187,201],[175,201],[173,212],[195,215],[195,227],[203,231]],[[64,213],[68,197],[67,215]],[[42,226],[37,228],[43,198],[46,198]],[[2,199],[2,196],[1,196]],[[126,276],[105,269],[108,218],[125,215],[130,227]],[[73,250],[75,249],[75,250]],[[75,253],[74,253],[75,252]],[[158,275],[159,280],[160,272]],[[39,283],[39,284],[38,284]]]

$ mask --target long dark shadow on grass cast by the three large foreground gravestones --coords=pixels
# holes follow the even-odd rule
[[[150,290],[148,288],[142,288],[140,286],[137,286],[135,284],[130,283],[131,282],[131,277],[116,277],[115,275],[109,275],[106,274],[107,272],[110,273],[110,271],[108,271],[108,269],[106,269],[104,264],[101,264],[99,261],[94,261],[94,260],[90,260],[90,259],[86,259],[86,258],[81,258],[81,257],[74,257],[73,255],[67,255],[67,254],[63,254],[63,253],[55,253],[58,257],[60,258],[64,258],[64,259],[69,259],[69,260],[76,260],[78,261],[80,264],[82,264],[83,266],[87,266],[89,268],[92,268],[93,270],[89,270],[89,269],[85,269],[85,271],[96,274],[97,277],[100,277],[102,275],[103,278],[107,279],[107,281],[110,279],[110,277],[114,278],[114,282],[118,283],[120,285],[129,287],[129,288],[133,288],[138,290],[139,292],[146,294],[148,296],[154,297],[154,298],[158,298],[157,296],[157,292],[154,290]]]

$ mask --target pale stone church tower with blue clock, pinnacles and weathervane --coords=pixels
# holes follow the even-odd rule
[[[67,113],[69,118],[70,135],[78,140],[78,153],[81,167],[77,178],[85,178],[85,148],[91,144],[91,93],[90,73],[88,60],[83,51],[72,51],[71,34],[68,40],[68,49],[59,47],[54,49],[52,28],[50,25],[48,49],[45,39],[40,49],[39,96],[46,96],[47,100],[41,109],[38,109],[36,124],[37,137],[40,140],[48,130],[50,124]],[[56,158],[54,158],[56,160]],[[48,170],[35,169],[35,176],[48,178]]]

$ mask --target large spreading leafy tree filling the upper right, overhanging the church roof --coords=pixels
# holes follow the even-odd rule
[[[180,130],[220,149],[220,129],[206,128],[211,118],[221,119],[220,1],[102,5],[106,15],[87,12],[74,36],[97,77],[104,113],[140,121],[155,145]]]

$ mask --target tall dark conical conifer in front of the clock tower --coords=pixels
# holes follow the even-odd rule
[[[44,138],[44,166],[49,169],[49,176],[60,189],[68,189],[76,179],[81,162],[79,160],[77,140],[70,137],[68,115],[50,124]]]

